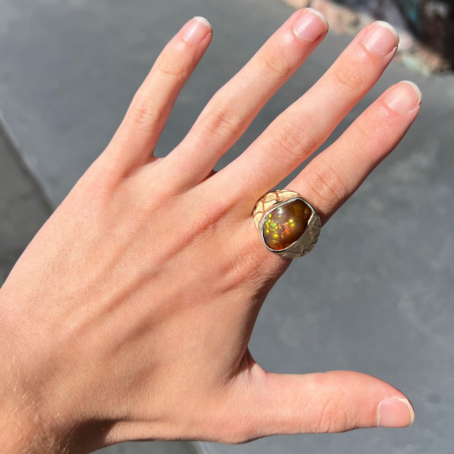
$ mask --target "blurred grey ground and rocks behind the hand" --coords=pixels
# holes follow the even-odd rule
[[[330,33],[218,168],[375,19],[399,31],[399,52],[321,149],[399,80],[419,85],[423,106],[314,251],[270,292],[250,349],[266,370],[376,375],[409,396],[415,423],[240,446],[124,443],[104,454],[454,453],[452,0],[0,0],[0,283],[109,143],[153,61],[188,19],[206,17],[214,37],[176,103],[159,156],[287,17],[309,5],[326,15]]]

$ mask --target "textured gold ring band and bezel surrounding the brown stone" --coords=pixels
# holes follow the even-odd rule
[[[301,236],[289,247],[280,250],[272,249],[266,244],[265,238],[263,237],[263,227],[266,216],[276,208],[285,206],[286,204],[296,200],[303,201],[311,210],[311,216],[307,222],[307,226]],[[267,192],[257,202],[252,216],[255,226],[259,231],[263,245],[268,251],[280,257],[295,258],[306,255],[314,248],[321,229],[321,220],[316,208],[304,197],[301,197],[301,195],[297,192],[288,191],[286,189]]]

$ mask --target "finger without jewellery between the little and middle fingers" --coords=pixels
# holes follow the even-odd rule
[[[169,168],[182,170],[178,181],[183,186],[193,186],[207,176],[321,42],[327,29],[328,24],[318,11],[297,11],[212,97],[187,137],[166,158]]]

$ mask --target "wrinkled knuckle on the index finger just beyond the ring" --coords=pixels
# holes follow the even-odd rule
[[[306,182],[328,210],[339,205],[348,194],[343,179],[326,163],[313,168]]]

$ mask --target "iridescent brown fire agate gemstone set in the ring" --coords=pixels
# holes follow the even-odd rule
[[[280,251],[296,242],[306,230],[311,213],[311,208],[299,199],[275,208],[263,224],[266,246]]]

